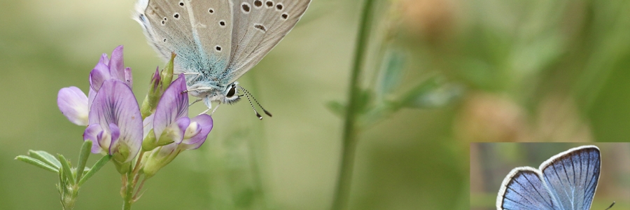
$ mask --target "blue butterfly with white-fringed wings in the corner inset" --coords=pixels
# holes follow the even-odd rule
[[[599,148],[580,146],[554,155],[539,169],[512,169],[503,179],[496,209],[590,209],[600,166]]]

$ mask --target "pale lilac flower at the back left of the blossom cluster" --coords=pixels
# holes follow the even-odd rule
[[[109,79],[120,80],[132,87],[131,69],[123,67],[123,45],[111,52],[111,59],[103,53],[98,64],[90,72],[90,90],[88,96],[77,87],[64,87],[57,94],[57,106],[70,122],[87,125],[87,114],[92,106],[96,92],[103,82]]]

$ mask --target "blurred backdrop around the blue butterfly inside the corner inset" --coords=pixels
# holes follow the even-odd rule
[[[591,209],[630,209],[630,143],[474,143],[470,144],[470,209],[496,209],[498,189],[515,167],[538,169],[570,148],[595,145],[601,174]]]

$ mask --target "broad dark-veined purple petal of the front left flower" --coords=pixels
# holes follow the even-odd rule
[[[113,132],[110,123],[117,125],[120,129],[118,144],[125,144],[130,150],[125,162],[132,160],[142,144],[143,125],[140,108],[131,88],[120,80],[105,80],[92,103],[90,125],[101,125],[109,134]]]

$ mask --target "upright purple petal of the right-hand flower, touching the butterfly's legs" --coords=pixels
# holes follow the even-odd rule
[[[179,76],[169,87],[158,102],[158,106],[153,113],[153,132],[155,137],[160,137],[162,132],[175,120],[188,116],[188,94],[186,90],[186,80],[183,74]]]

